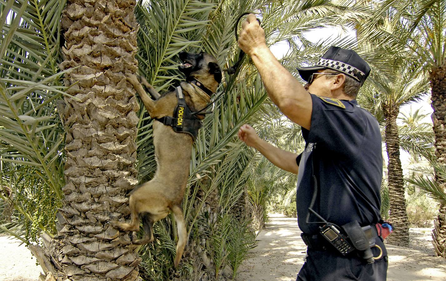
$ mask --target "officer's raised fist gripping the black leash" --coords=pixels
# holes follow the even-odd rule
[[[249,14],[246,20],[242,23],[242,30],[239,36],[239,47],[248,56],[259,48],[268,48],[265,41],[265,32],[260,27],[259,22],[254,14]]]

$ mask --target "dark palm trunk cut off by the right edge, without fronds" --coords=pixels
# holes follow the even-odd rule
[[[432,87],[432,121],[435,133],[435,154],[438,161],[446,165],[446,65],[434,68],[430,73],[430,85]],[[435,175],[435,181],[439,186],[446,188],[446,179]],[[438,256],[446,258],[446,206],[440,204],[439,215],[434,221],[432,231],[432,244]]]

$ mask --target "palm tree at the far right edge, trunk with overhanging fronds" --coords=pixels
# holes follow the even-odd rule
[[[446,2],[442,0],[386,0],[377,13],[389,14],[392,22],[400,29],[385,30],[379,38],[393,47],[406,48],[409,55],[415,54],[424,65],[432,89],[431,100],[434,109],[436,157],[440,166],[446,164],[444,92],[446,89]],[[375,21],[376,23],[376,21]],[[439,188],[446,187],[446,179],[435,169],[435,181]],[[433,244],[439,256],[446,258],[446,205],[440,205],[440,214],[435,220]]]

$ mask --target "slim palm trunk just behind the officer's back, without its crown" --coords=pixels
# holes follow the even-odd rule
[[[389,159],[388,171],[388,190],[390,197],[390,216],[395,231],[388,236],[388,243],[399,246],[409,244],[409,221],[406,212],[406,200],[404,198],[403,169],[400,159],[400,140],[398,137],[398,126],[396,117],[399,109],[396,106],[390,106],[384,110],[386,119],[385,142],[387,156]]]

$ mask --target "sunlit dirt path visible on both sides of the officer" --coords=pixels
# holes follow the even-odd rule
[[[244,261],[237,281],[296,280],[306,246],[297,219],[270,214],[267,228],[257,236],[259,244]],[[431,229],[411,228],[409,247],[386,245],[389,254],[387,281],[444,281],[446,260],[435,257]]]

